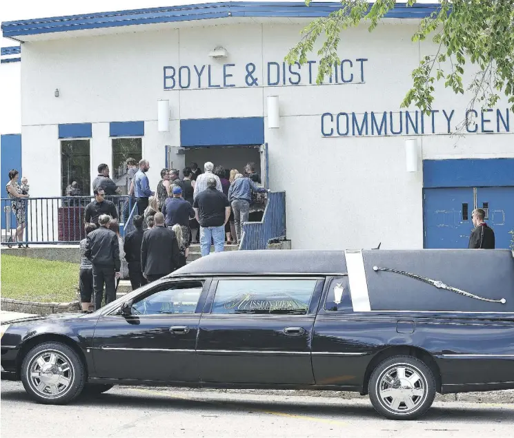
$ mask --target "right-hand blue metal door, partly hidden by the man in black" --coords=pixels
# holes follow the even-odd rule
[[[514,230],[514,187],[477,187],[477,208],[495,232],[496,248],[509,248]]]

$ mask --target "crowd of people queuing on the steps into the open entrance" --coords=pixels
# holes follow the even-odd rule
[[[99,309],[104,299],[106,304],[115,300],[123,258],[132,289],[137,289],[184,266],[198,233],[202,256],[210,253],[211,244],[215,252],[223,251],[225,240],[240,242],[243,222],[261,220],[264,213],[267,190],[253,163],[246,165],[245,175],[210,162],[204,172],[196,163],[185,167],[182,179],[177,169],[162,169],[155,191],[146,176],[148,160],[139,161],[137,170],[132,158],[126,163],[130,203],[137,205],[135,229],[123,242],[117,206],[106,198],[115,194],[114,183],[107,165],[100,165],[93,181],[95,199],[84,211],[86,238],[80,242],[83,310],[91,305]]]

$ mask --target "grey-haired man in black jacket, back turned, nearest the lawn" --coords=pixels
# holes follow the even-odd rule
[[[84,255],[93,265],[95,310],[101,307],[103,283],[106,284],[106,304],[116,300],[115,274],[119,272],[121,263],[118,236],[109,229],[110,220],[108,214],[102,214],[98,220],[100,228],[91,231],[86,240]]]

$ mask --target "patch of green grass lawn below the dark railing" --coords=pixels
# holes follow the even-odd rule
[[[14,300],[70,302],[77,300],[79,265],[39,258],[0,257],[1,296]]]

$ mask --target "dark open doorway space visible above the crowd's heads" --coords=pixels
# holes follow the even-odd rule
[[[252,146],[202,146],[186,147],[186,166],[197,163],[204,171],[204,163],[210,161],[225,169],[237,169],[244,174],[246,163],[255,163],[255,171],[262,176],[260,145]]]

